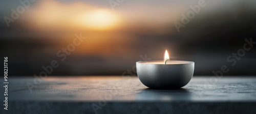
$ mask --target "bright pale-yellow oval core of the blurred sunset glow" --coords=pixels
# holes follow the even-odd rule
[[[112,29],[118,24],[118,16],[109,10],[95,10],[84,13],[77,18],[80,27],[93,30]]]

